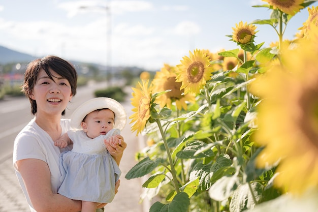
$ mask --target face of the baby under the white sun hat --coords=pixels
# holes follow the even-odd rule
[[[106,135],[114,127],[114,112],[110,109],[93,111],[87,114],[82,129],[89,138]]]

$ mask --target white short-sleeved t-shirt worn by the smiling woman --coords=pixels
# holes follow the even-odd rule
[[[62,134],[66,133],[71,128],[69,119],[61,119],[60,125]],[[13,147],[15,173],[32,212],[36,212],[36,210],[31,204],[23,179],[20,172],[16,169],[15,163],[23,159],[39,159],[46,162],[51,172],[52,191],[53,193],[57,193],[61,176],[59,171],[59,156],[61,152],[70,150],[71,148],[72,145],[68,146],[67,149],[61,149],[58,146],[54,146],[52,138],[36,124],[35,118],[33,118],[15,138]]]

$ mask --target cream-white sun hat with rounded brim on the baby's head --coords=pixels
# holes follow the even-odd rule
[[[76,108],[71,116],[71,128],[81,130],[81,123],[84,117],[94,110],[103,108],[108,108],[114,112],[114,128],[121,131],[125,127],[127,122],[126,111],[119,102],[107,97],[90,99]]]

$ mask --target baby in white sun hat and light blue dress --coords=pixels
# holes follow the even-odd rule
[[[109,203],[115,196],[115,183],[121,171],[104,140],[114,147],[120,145],[116,135],[124,128],[126,119],[126,112],[117,101],[94,98],[74,111],[70,122],[73,130],[54,142],[60,148],[73,144],[73,149],[60,157],[62,183],[58,193],[82,200],[82,212],[96,211],[98,203]]]

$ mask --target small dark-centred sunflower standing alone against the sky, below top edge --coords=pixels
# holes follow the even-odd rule
[[[243,21],[240,21],[239,24],[235,24],[236,28],[232,27],[233,29],[233,36],[232,39],[237,44],[249,44],[254,42],[255,38],[255,29],[256,26],[252,24],[248,24]]]

